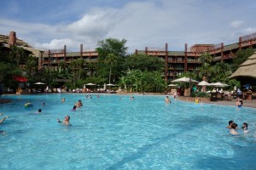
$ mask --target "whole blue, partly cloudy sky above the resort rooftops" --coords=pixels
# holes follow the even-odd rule
[[[33,48],[94,50],[107,38],[136,49],[183,51],[196,43],[224,45],[256,32],[254,0],[1,1],[0,34],[15,31]]]

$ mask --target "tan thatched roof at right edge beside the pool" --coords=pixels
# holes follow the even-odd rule
[[[239,68],[230,76],[230,78],[253,78],[256,79],[256,53],[239,65]]]

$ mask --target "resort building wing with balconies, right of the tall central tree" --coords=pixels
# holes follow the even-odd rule
[[[165,79],[173,80],[183,72],[194,71],[201,66],[199,57],[203,53],[212,54],[213,59],[218,62],[223,60],[230,63],[236,57],[239,49],[256,48],[256,32],[243,37],[239,37],[238,42],[224,45],[218,44],[195,44],[188,49],[185,44],[184,51],[169,51],[168,43],[166,48],[145,48],[136,50],[136,54],[146,54],[160,57],[166,61]]]

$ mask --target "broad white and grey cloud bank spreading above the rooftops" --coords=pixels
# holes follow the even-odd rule
[[[78,20],[66,23],[60,18],[54,25],[0,17],[0,29],[3,34],[16,31],[19,38],[36,48],[67,45],[68,50],[79,51],[80,43],[84,48],[96,48],[99,40],[114,37],[125,38],[131,52],[145,47],[164,48],[166,42],[169,50],[183,50],[185,43],[229,44],[256,31],[256,23],[252,22],[256,11],[247,8],[240,1],[228,5],[223,1],[144,0],[125,3],[121,8],[87,7],[86,11],[79,11],[79,15],[84,15]],[[237,13],[239,10],[242,13]]]

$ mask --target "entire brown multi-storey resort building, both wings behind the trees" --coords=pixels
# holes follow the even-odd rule
[[[7,41],[9,40],[9,42]],[[56,66],[64,61],[70,64],[73,59],[85,59],[86,64],[96,65],[98,54],[96,50],[84,50],[83,44],[80,44],[79,52],[68,52],[67,46],[63,49],[38,50],[30,47],[26,42],[16,38],[14,31],[10,32],[9,37],[0,35],[1,44],[17,44],[22,48],[30,51],[38,57],[39,68],[44,66]],[[165,60],[165,80],[173,80],[183,72],[194,71],[201,66],[199,57],[203,53],[212,54],[216,62],[223,60],[230,63],[236,57],[239,49],[256,48],[256,32],[238,38],[238,42],[224,45],[223,42],[218,44],[195,44],[188,48],[185,44],[184,51],[171,51],[166,43],[165,48],[145,48],[144,50],[135,50],[135,54],[146,54],[155,56]]]

